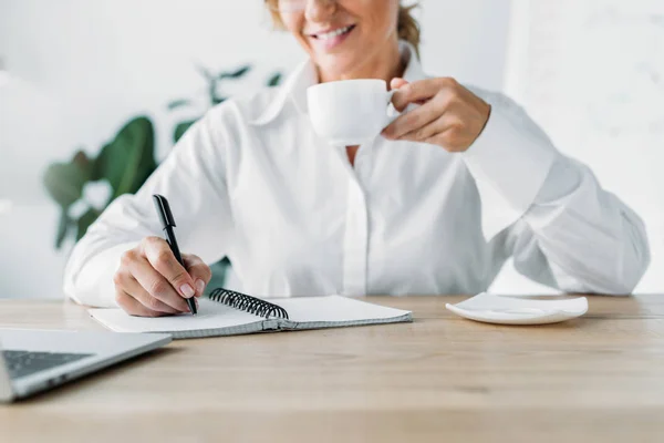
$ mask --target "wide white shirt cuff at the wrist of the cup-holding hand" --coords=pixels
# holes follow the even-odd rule
[[[483,133],[461,153],[479,190],[487,241],[528,210],[560,155],[539,127],[519,113],[510,115],[494,106]]]

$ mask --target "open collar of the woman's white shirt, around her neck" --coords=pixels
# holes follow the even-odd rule
[[[426,75],[415,48],[407,41],[400,40],[400,52],[406,62],[404,80],[413,83],[425,79]],[[251,124],[260,126],[272,122],[279,116],[288,102],[293,103],[300,113],[307,114],[307,89],[318,84],[318,72],[311,59],[300,63],[279,87],[278,93],[264,111],[251,121]]]

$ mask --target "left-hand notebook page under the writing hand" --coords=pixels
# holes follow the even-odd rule
[[[122,309],[91,309],[90,315],[117,332],[177,332],[200,329],[232,328],[262,321],[261,317],[229,308],[208,299],[198,299],[198,315],[173,317],[132,317]]]

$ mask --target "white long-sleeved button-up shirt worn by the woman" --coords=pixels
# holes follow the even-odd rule
[[[404,78],[425,79],[413,48]],[[380,135],[344,146],[313,132],[311,61],[280,87],[234,99],[196,123],[136,195],[114,200],[74,248],[65,293],[115,306],[123,251],[162,235],[163,194],[180,249],[227,256],[247,293],[439,295],[486,290],[512,256],[562,291],[629,293],[650,262],[644,225],[522,109],[469,87],[491,116],[467,152]]]

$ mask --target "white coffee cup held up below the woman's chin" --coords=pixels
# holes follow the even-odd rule
[[[317,84],[307,90],[309,119],[328,143],[361,145],[400,115],[391,105],[393,93],[384,80],[375,79]]]

